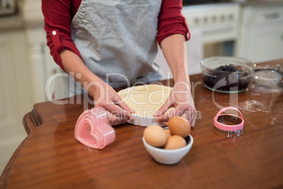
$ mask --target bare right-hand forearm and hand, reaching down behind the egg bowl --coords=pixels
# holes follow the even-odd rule
[[[172,116],[183,116],[189,121],[191,127],[194,127],[196,123],[196,108],[189,87],[187,45],[184,35],[175,34],[166,37],[161,42],[161,48],[172,71],[175,86],[165,104],[156,112],[156,121],[164,126],[168,126],[169,118]],[[170,107],[175,109],[165,114]]]

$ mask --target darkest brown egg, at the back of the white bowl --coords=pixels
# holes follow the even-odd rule
[[[174,116],[168,121],[168,128],[171,135],[180,135],[186,138],[191,133],[191,125],[187,119],[182,116]]]

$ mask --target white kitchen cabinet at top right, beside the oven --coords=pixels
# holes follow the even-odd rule
[[[236,54],[253,62],[283,58],[283,3],[243,6]]]

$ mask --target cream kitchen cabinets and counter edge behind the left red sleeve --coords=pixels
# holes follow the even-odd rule
[[[46,80],[58,68],[46,46],[41,1],[18,0],[0,17],[0,173],[27,134],[23,116],[47,99]]]

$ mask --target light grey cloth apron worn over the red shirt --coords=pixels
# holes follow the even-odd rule
[[[82,0],[72,38],[94,74],[112,87],[161,79],[153,62],[162,0]],[[80,86],[70,80],[77,94]],[[70,86],[71,87],[71,86]],[[70,92],[70,96],[72,96]]]

